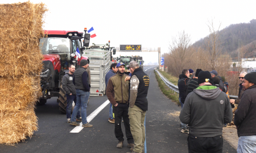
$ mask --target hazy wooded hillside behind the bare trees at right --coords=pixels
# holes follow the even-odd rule
[[[250,23],[231,24],[223,30],[219,31],[219,41],[223,53],[229,53],[232,59],[237,59],[237,49],[243,47],[244,57],[256,56],[256,20]],[[206,37],[195,42],[196,47],[203,47]]]

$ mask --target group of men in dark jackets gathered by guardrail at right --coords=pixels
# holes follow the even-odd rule
[[[193,79],[190,79],[190,76]],[[228,86],[215,70],[183,70],[179,76],[182,133],[188,133],[189,152],[222,152],[222,128],[232,122],[231,104],[239,143],[237,152],[256,152],[256,72],[241,72],[239,96],[229,100]]]

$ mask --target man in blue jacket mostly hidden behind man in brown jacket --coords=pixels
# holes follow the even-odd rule
[[[117,71],[118,71],[118,68],[116,68],[116,63],[111,64],[110,70],[106,73],[106,76],[105,76],[106,86],[108,85],[109,78],[111,78],[113,75],[115,75]],[[111,103],[110,103],[110,107],[109,107],[108,121],[111,123],[115,123],[115,119],[113,118],[113,107],[112,107]]]

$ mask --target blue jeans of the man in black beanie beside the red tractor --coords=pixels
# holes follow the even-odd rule
[[[83,90],[76,89],[76,107],[74,107],[73,114],[71,117],[71,122],[76,122],[76,115],[79,111],[79,108],[81,107],[81,117],[82,117],[82,123],[87,123],[87,102],[90,96],[90,92],[84,92]]]

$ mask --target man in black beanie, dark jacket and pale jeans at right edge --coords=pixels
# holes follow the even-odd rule
[[[237,152],[256,151],[256,72],[243,79],[244,93],[234,113],[234,125],[239,136]]]

